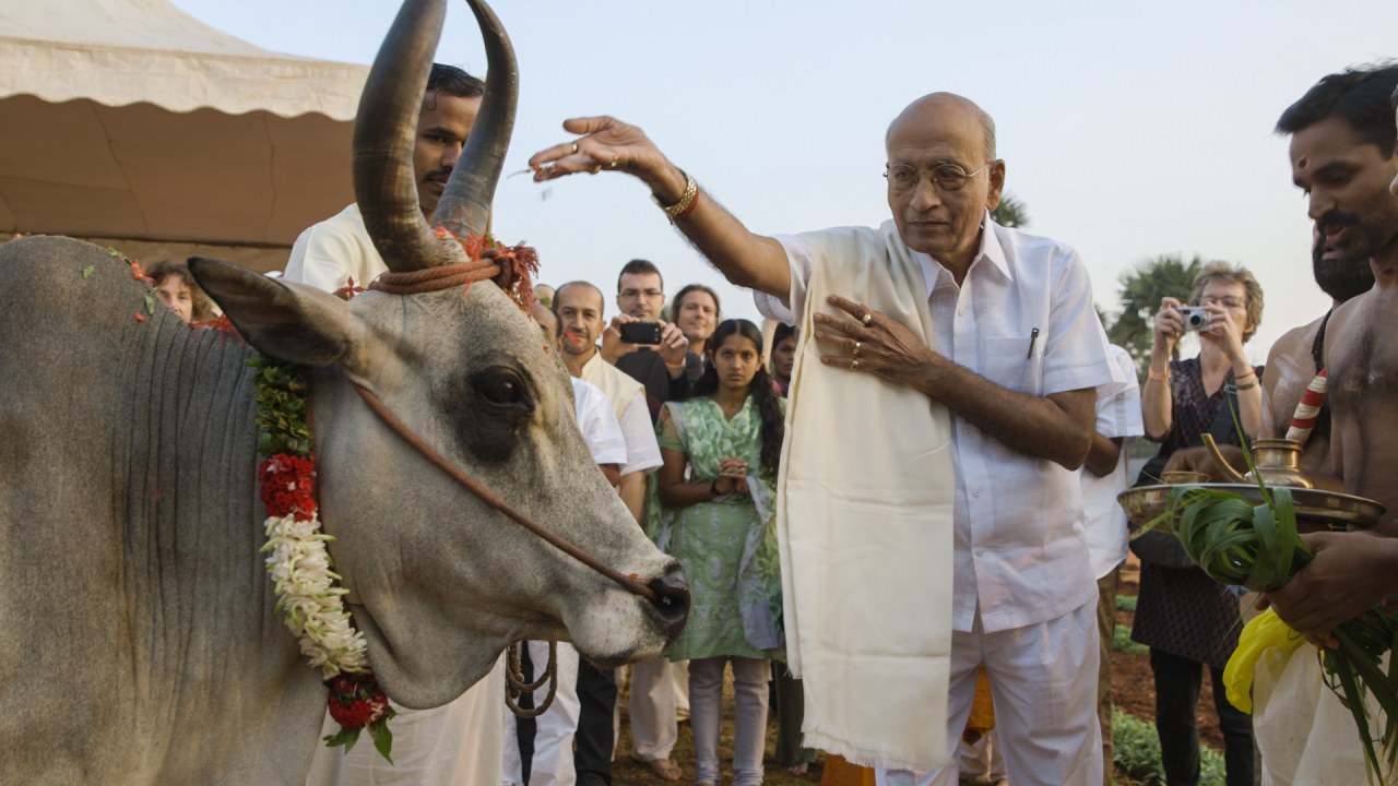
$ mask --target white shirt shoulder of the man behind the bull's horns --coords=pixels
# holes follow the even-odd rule
[[[334,292],[350,284],[368,287],[387,270],[363,225],[359,206],[351,204],[320,224],[312,224],[296,238],[287,259],[287,281],[310,284]]]

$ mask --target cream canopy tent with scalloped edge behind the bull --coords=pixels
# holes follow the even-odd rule
[[[256,48],[169,0],[0,1],[0,231],[280,269],[354,199],[368,70]]]

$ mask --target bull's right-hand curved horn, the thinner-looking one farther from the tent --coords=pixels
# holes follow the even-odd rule
[[[495,11],[484,0],[467,0],[475,11],[475,21],[485,38],[485,98],[471,127],[461,159],[452,169],[452,179],[438,201],[433,224],[440,224],[456,235],[484,234],[495,199],[495,185],[500,180],[505,152],[514,131],[514,108],[520,95],[519,63],[514,48]]]

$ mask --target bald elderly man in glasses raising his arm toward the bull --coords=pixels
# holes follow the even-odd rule
[[[888,768],[884,783],[955,783],[946,740],[984,662],[1011,782],[1100,783],[1072,470],[1114,375],[1078,255],[988,215],[1005,182],[990,116],[914,101],[885,138],[892,221],[783,238],[749,232],[639,129],[563,127],[583,136],[534,155],[537,180],[640,178],[731,283],[798,324],[779,529],[807,744]]]

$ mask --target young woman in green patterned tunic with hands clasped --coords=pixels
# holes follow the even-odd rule
[[[768,662],[784,655],[773,505],[786,401],[763,368],[756,324],[720,323],[707,354],[695,397],[665,404],[657,427],[657,543],[684,565],[692,596],[689,624],[665,655],[689,660],[695,782],[719,783],[719,708],[733,663],[734,786],[759,786]]]

